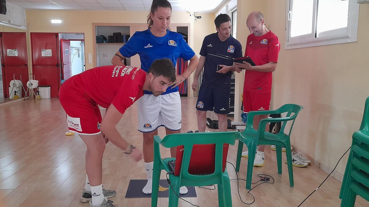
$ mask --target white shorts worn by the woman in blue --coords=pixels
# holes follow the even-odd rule
[[[137,100],[138,131],[151,132],[159,126],[169,130],[182,127],[182,110],[179,92],[159,95],[144,94]]]

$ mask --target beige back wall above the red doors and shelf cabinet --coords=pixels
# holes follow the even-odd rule
[[[146,23],[147,14],[147,11],[26,10],[27,24],[31,23],[27,29],[27,42],[30,43],[30,32],[85,33],[86,60],[89,53],[92,53],[93,59],[92,64],[86,62],[86,69],[90,69],[96,66],[93,23]],[[62,24],[51,24],[51,19],[60,19]],[[190,35],[193,36],[193,17],[190,17],[189,13],[173,12],[171,22],[190,23]],[[193,45],[192,40],[190,46],[193,48]],[[31,60],[30,57],[29,60]]]

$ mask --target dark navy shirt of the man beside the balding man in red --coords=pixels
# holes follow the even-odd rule
[[[232,72],[217,73],[217,65],[232,66],[233,58],[242,57],[241,43],[232,36],[222,42],[218,33],[213,33],[204,38],[200,55],[206,57],[201,85],[210,88],[230,87]]]

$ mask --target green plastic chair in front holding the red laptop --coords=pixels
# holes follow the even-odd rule
[[[158,205],[158,190],[160,173],[162,170],[172,172],[168,161],[173,161],[175,158],[161,158],[159,144],[166,148],[184,146],[182,167],[179,176],[169,174],[169,206],[178,206],[179,188],[181,186],[206,186],[218,185],[218,199],[220,207],[231,207],[231,184],[227,170],[223,172],[223,144],[235,144],[236,139],[240,139],[241,134],[238,131],[228,132],[205,132],[205,133],[178,133],[169,134],[161,139],[159,136],[154,136],[154,168],[152,178],[152,194],[151,206]],[[188,172],[192,147],[194,144],[215,144],[215,171],[210,175],[192,175]],[[173,188],[172,188],[173,187]],[[174,192],[176,193],[174,193]]]

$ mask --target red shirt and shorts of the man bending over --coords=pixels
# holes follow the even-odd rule
[[[101,66],[70,77],[59,91],[69,130],[100,133],[97,105],[108,108],[113,104],[123,114],[144,95],[145,80],[146,72],[133,66]]]

